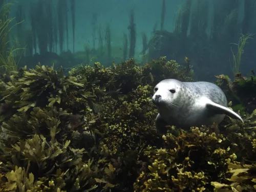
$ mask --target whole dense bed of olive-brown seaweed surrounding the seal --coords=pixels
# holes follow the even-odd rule
[[[226,117],[156,132],[152,89],[164,78],[192,81],[185,61],[6,74],[0,191],[253,191],[256,110],[244,124]]]

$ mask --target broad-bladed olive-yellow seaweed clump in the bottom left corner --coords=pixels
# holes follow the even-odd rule
[[[5,154],[11,151],[12,162],[8,161],[8,165],[1,166],[1,169],[12,170],[5,175],[7,182],[2,176],[2,190],[63,191],[60,189],[65,187],[67,191],[91,191],[97,188],[100,179],[96,177],[101,175],[100,172],[104,173],[98,165],[103,160],[96,165],[90,159],[84,162],[84,149],[68,147],[69,143],[48,143],[43,136],[34,135],[32,139],[7,148]]]

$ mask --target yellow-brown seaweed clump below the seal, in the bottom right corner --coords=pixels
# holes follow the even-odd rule
[[[144,151],[149,165],[134,184],[136,191],[254,191],[255,113],[245,118],[243,129],[230,118],[219,127],[188,132],[170,126],[161,148]]]

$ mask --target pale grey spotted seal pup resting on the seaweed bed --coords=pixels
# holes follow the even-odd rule
[[[159,114],[156,117],[156,129],[166,133],[166,125],[175,125],[182,129],[191,126],[221,123],[225,115],[243,119],[227,108],[224,92],[214,83],[182,82],[176,79],[160,81],[154,88],[152,102]]]

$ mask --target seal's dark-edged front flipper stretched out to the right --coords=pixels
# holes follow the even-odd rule
[[[210,110],[214,110],[215,112],[219,113],[219,114],[225,114],[233,119],[239,119],[240,121],[243,121],[243,119],[235,112],[233,112],[232,110],[226,108],[225,106],[222,106],[220,104],[217,104],[215,102],[212,102],[210,99],[207,98],[206,101],[206,107]]]

